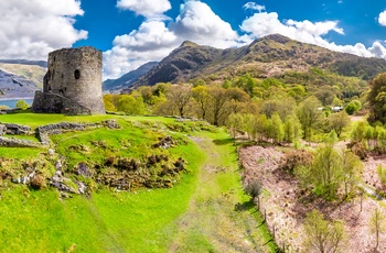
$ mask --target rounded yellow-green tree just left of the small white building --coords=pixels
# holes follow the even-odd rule
[[[322,111],[319,110],[320,107],[321,103],[315,97],[309,97],[298,108],[298,119],[302,125],[303,135],[307,141],[310,141],[312,130],[322,119]]]

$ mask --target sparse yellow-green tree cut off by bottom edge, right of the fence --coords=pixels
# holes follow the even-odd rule
[[[339,252],[345,233],[341,221],[329,222],[318,210],[309,212],[304,220],[304,248],[308,252]]]

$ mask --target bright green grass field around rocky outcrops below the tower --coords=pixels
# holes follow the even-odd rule
[[[238,249],[228,243],[239,243],[242,250],[275,252],[271,243],[261,246],[270,240],[269,234],[261,231],[264,226],[257,229],[260,217],[247,205],[235,147],[223,130],[207,132],[202,129],[208,127],[201,122],[178,123],[173,119],[147,117],[20,113],[0,116],[0,121],[36,128],[60,121],[97,122],[111,118],[118,119],[121,130],[55,135],[56,152],[71,160],[69,164],[103,160],[112,153],[143,157],[159,135],[170,134],[183,144],[164,152],[183,157],[189,173],[168,189],[119,193],[99,186],[90,197],[74,195],[65,200],[60,199],[56,189],[36,191],[0,180],[0,252],[234,252]],[[109,148],[94,148],[92,141],[96,140],[105,141]],[[120,148],[122,143],[128,148]],[[89,146],[87,152],[79,154],[68,148],[79,144]],[[0,148],[0,157],[30,161],[44,152]],[[208,166],[224,169],[212,174]],[[4,169],[0,167],[0,172]],[[236,210],[237,205],[245,208]]]

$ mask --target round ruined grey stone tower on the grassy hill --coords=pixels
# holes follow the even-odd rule
[[[43,91],[36,91],[34,112],[103,114],[101,52],[90,47],[63,48],[49,54]]]

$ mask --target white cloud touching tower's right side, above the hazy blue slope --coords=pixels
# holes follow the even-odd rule
[[[138,30],[117,36],[114,47],[104,53],[104,78],[117,78],[148,62],[160,61],[180,42],[164,22],[147,21]]]

